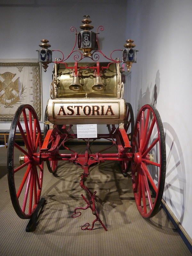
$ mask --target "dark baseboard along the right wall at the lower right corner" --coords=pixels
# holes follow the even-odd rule
[[[170,207],[166,204],[164,199],[162,199],[161,206],[164,209],[165,213],[167,214],[168,218],[171,220],[173,226],[177,229],[178,233],[180,234],[183,242],[187,245],[189,251],[192,253],[192,239],[183,228],[179,220],[175,217],[174,213],[170,209]]]

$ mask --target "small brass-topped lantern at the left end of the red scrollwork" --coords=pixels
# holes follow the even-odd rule
[[[51,47],[51,44],[48,44],[49,40],[42,39],[39,44],[42,49],[37,50],[38,52],[38,61],[43,64],[44,72],[47,71],[48,64],[52,62],[52,50],[48,49]]]

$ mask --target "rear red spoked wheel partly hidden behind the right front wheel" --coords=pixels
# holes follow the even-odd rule
[[[125,103],[126,106],[126,114],[124,119],[124,129],[127,133],[129,140],[131,141],[132,146],[132,138],[134,132],[134,116],[133,110],[130,103]],[[130,161],[120,161],[120,169],[123,173],[124,177],[127,177],[127,172],[130,170],[131,162]]]

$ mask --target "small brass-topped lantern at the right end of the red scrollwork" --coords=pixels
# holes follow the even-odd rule
[[[132,63],[136,63],[136,55],[138,50],[132,49],[136,46],[135,44],[133,44],[133,42],[133,40],[128,39],[126,40],[126,44],[124,44],[124,47],[126,49],[124,49],[123,51],[122,61],[126,64],[127,71],[130,71]]]

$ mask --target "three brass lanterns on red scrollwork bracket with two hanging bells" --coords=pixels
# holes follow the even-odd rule
[[[99,34],[99,31],[104,30],[103,26],[99,26],[97,28],[96,33],[92,32],[90,30],[93,29],[94,27],[92,25],[90,25],[90,23],[92,22],[91,20],[88,19],[88,18],[90,18],[90,16],[84,15],[83,17],[84,17],[84,19],[82,20],[83,25],[80,26],[80,28],[83,29],[83,31],[80,31],[79,33],[77,33],[77,30],[75,27],[70,28],[71,32],[75,32],[76,38],[75,38],[75,45],[74,45],[72,51],[68,54],[68,56],[66,58],[64,57],[64,54],[60,50],[48,49],[49,47],[51,47],[51,45],[48,44],[49,41],[47,39],[41,40],[42,44],[39,44],[39,46],[42,47],[42,49],[37,50],[37,52],[38,52],[38,61],[43,64],[44,72],[46,72],[48,64],[52,62],[52,52],[53,51],[58,51],[58,52],[61,52],[61,54],[62,54],[62,58],[55,59],[55,61],[53,61],[54,63],[64,63],[64,61],[67,60],[71,56],[72,53],[75,53],[75,56],[74,56],[75,61],[80,61],[80,60],[84,59],[85,57],[88,57],[88,58],[92,59],[93,61],[98,62],[98,60],[99,60],[98,53],[100,53],[106,59],[111,60],[112,63],[120,63],[121,61],[119,60],[119,58],[113,59],[112,53],[116,52],[116,51],[123,51],[122,62],[126,64],[127,71],[130,71],[130,68],[132,67],[132,63],[136,62],[136,54],[138,52],[137,50],[133,49],[135,47],[135,44],[133,44],[134,41],[131,39],[126,40],[126,44],[124,44],[124,47],[126,49],[113,50],[111,52],[110,56],[107,57],[101,51],[99,41],[98,41],[98,34]],[[78,42],[78,49],[81,50],[83,52],[83,54],[80,51],[75,50],[77,42]],[[73,69],[75,67],[71,67],[71,68]],[[94,67],[94,68],[95,68],[95,70],[98,69],[98,67]],[[104,67],[102,67],[102,68],[104,68]],[[105,67],[105,68],[108,68],[108,67]],[[123,69],[120,72],[122,74]],[[102,91],[105,89],[105,85],[102,83],[102,79],[100,76],[101,75],[97,72],[97,75],[95,76],[95,84],[93,85],[93,88],[92,88],[94,91]],[[125,76],[122,74],[122,82],[125,82],[124,78],[125,78]],[[80,79],[77,74],[75,74],[75,76],[74,76],[73,83],[71,84],[70,89],[73,91],[82,90],[82,86],[80,84]]]

